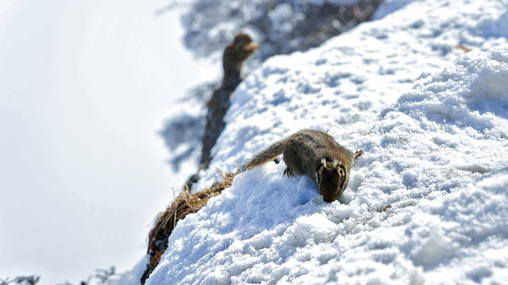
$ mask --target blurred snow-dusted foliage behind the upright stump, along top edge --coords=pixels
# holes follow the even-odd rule
[[[197,57],[218,59],[236,33],[250,34],[260,45],[251,63],[255,66],[275,54],[317,47],[334,35],[369,21],[380,3],[381,0],[188,0],[172,1],[154,14],[182,10],[183,44]]]

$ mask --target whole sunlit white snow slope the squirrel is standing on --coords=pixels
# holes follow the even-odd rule
[[[147,284],[505,282],[508,45],[490,48],[506,43],[505,11],[503,1],[409,3],[268,60],[234,93],[197,188],[216,167],[319,128],[365,151],[346,204],[282,177],[283,162],[245,171],[178,223]]]

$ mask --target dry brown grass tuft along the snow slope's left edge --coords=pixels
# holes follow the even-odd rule
[[[214,183],[212,187],[195,194],[190,194],[188,187],[184,186],[184,189],[175,198],[173,203],[164,212],[158,213],[155,223],[148,234],[147,253],[150,263],[141,277],[142,284],[145,283],[145,280],[160,261],[162,254],[168,248],[168,237],[176,227],[176,223],[185,218],[189,213],[199,211],[206,205],[208,199],[219,195],[224,189],[230,187],[233,183],[233,177],[239,173],[239,171],[236,173],[223,173],[218,169],[217,172],[222,178],[221,182]]]

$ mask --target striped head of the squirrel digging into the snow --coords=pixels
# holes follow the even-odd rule
[[[338,159],[326,161],[322,158],[315,172],[317,191],[323,196],[325,202],[333,202],[342,195],[346,188],[348,174],[342,162]]]

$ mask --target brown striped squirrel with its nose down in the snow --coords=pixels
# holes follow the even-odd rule
[[[253,156],[243,165],[242,171],[272,161],[282,153],[287,165],[282,176],[309,176],[323,200],[333,202],[344,192],[351,165],[363,151],[346,150],[325,132],[301,130]]]

